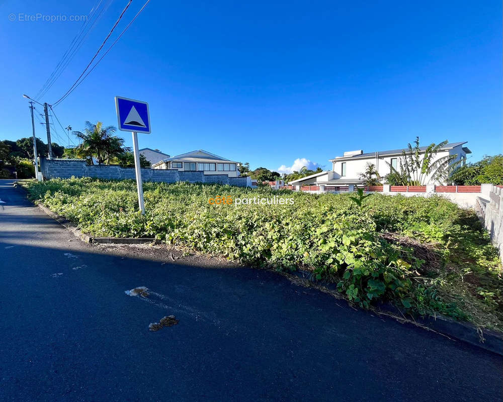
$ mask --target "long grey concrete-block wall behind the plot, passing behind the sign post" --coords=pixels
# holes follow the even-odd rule
[[[108,179],[136,178],[134,168],[116,165],[88,165],[82,159],[45,159],[40,158],[40,167],[44,179],[74,177],[96,177]],[[220,183],[246,187],[246,177],[228,177],[226,174],[204,174],[203,172],[184,172],[177,169],[141,169],[142,181],[162,181],[175,183]]]

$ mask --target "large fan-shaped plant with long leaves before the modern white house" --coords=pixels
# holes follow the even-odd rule
[[[434,161],[437,153],[447,144],[447,140],[440,144],[432,143],[424,151],[419,146],[419,137],[415,138],[414,146],[407,146],[407,150],[402,151],[400,158],[400,171],[395,169],[391,163],[389,165],[395,178],[405,178],[403,185],[424,185],[428,176],[432,179],[445,183],[452,171],[459,166],[461,161],[455,161],[457,155],[441,156]]]

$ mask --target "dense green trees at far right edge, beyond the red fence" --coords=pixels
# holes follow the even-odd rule
[[[503,155],[486,155],[478,162],[460,166],[450,179],[457,185],[503,184]]]

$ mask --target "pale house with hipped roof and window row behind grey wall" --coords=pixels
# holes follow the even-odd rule
[[[165,158],[154,163],[152,169],[202,171],[204,174],[226,174],[229,177],[237,177],[239,176],[238,164],[239,162],[197,149],[171,158]]]

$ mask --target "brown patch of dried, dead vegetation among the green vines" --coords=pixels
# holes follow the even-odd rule
[[[379,235],[388,243],[412,249],[414,257],[424,260],[425,263],[421,266],[421,269],[418,269],[420,273],[439,273],[442,269],[444,264],[442,256],[437,251],[434,243],[421,243],[410,237],[400,236],[391,232],[382,232]]]

